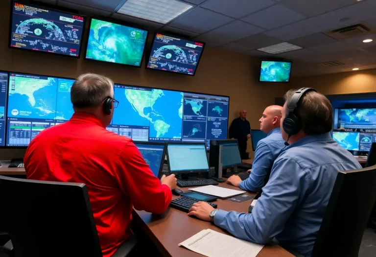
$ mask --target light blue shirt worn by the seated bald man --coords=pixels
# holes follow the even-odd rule
[[[272,170],[274,161],[282,152],[284,140],[281,128],[275,128],[268,133],[266,138],[259,140],[255,151],[255,160],[249,178],[239,184],[241,189],[258,192],[265,185],[265,178]]]

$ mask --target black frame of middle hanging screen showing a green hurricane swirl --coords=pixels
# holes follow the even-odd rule
[[[96,59],[87,58],[87,51],[88,51],[89,37],[90,37],[90,28],[92,26],[93,19],[94,20],[98,20],[98,21],[102,21],[102,22],[114,23],[114,24],[117,24],[117,25],[126,26],[126,27],[130,27],[130,28],[140,29],[140,30],[146,31],[146,40],[145,40],[145,43],[143,45],[143,51],[142,51],[140,65],[136,66],[136,65],[131,65],[131,64],[113,63],[113,62],[107,62],[107,61],[102,61],[102,60],[96,60]],[[95,18],[95,17],[91,17],[90,18],[90,23],[89,23],[89,29],[88,29],[88,32],[87,32],[87,35],[86,35],[86,45],[85,45],[84,60],[89,60],[89,61],[94,61],[94,62],[101,62],[101,63],[109,63],[109,64],[120,65],[120,66],[129,66],[129,67],[141,68],[141,66],[142,66],[142,60],[144,59],[143,57],[145,56],[146,44],[147,44],[147,38],[148,38],[148,36],[149,36],[149,30],[147,30],[147,29],[140,28],[140,27],[135,27],[135,26],[127,24],[127,23],[122,23],[119,20],[112,20],[112,19],[109,19],[109,18]]]

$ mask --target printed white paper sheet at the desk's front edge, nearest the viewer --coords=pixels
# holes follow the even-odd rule
[[[264,247],[211,229],[202,230],[179,246],[208,257],[256,257]]]

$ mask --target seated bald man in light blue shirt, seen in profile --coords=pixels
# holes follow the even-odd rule
[[[266,107],[262,113],[260,130],[267,137],[259,140],[255,151],[255,160],[249,178],[241,181],[239,176],[233,175],[227,183],[247,191],[260,192],[269,179],[274,161],[285,147],[281,134],[282,106],[272,105]]]

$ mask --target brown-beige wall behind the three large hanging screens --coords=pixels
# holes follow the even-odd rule
[[[0,70],[71,78],[84,72],[94,72],[109,76],[121,84],[229,95],[230,122],[237,116],[239,109],[246,108],[251,126],[255,128],[258,128],[258,118],[264,108],[274,104],[275,97],[281,96],[284,90],[281,84],[258,83],[258,60],[210,47],[206,47],[194,77],[145,70],[144,63],[138,69],[84,60],[83,51],[80,59],[74,59],[9,49],[9,8],[8,1],[0,1],[0,34],[3,35],[0,38]],[[248,150],[252,152],[250,143]],[[0,160],[22,157],[23,153],[24,150],[0,150]]]

